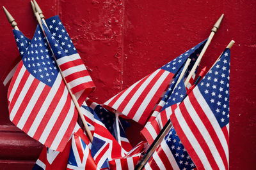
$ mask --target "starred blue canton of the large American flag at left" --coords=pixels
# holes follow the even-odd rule
[[[26,54],[22,57],[22,61],[30,74],[52,87],[59,70],[39,26],[36,27],[35,35],[28,46]]]

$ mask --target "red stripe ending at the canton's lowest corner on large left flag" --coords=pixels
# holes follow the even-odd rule
[[[43,101],[45,101],[45,98],[49,94],[51,90],[51,87],[45,85],[44,90],[42,90],[42,93],[38,97],[38,100],[36,101],[33,110],[31,111],[32,114],[29,115],[28,120],[26,121],[26,124],[24,124],[24,127],[22,131],[28,133],[31,125],[33,124],[36,115],[38,114],[38,111],[41,109],[42,105],[44,104]]]

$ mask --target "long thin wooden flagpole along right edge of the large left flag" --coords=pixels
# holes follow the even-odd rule
[[[36,16],[36,20],[38,21],[38,24],[40,25],[42,31],[44,32],[44,28],[43,28],[42,22],[41,22],[41,17],[40,17],[40,15],[39,15],[39,13],[37,11],[35,13],[35,16]],[[45,36],[45,39],[46,39],[47,43],[49,43],[49,41],[48,41],[48,39],[47,39],[47,37],[45,35],[45,32],[44,32],[44,36]],[[52,51],[52,48],[50,48],[50,49],[51,49],[52,55],[54,55],[54,53]],[[54,59],[56,60],[55,55],[54,55]],[[58,65],[58,62],[56,62],[56,63],[57,63],[58,68],[60,69],[60,66]],[[65,80],[65,77],[63,76],[63,73],[62,73],[61,69],[60,69],[60,74],[61,74],[61,76],[62,76],[62,78],[63,78],[63,80],[65,82],[65,85],[66,85],[66,87],[68,89],[68,92],[69,92],[70,96],[72,97],[72,101],[74,102],[74,104],[76,106],[77,112],[79,113],[79,116],[81,117],[81,120],[82,120],[83,125],[84,125],[85,130],[86,130],[86,133],[88,134],[88,138],[90,139],[90,141],[92,143],[92,140],[93,140],[92,132],[90,131],[90,129],[89,129],[88,125],[87,125],[87,122],[86,122],[86,120],[85,120],[85,118],[83,116],[82,110],[81,110],[81,108],[80,108],[80,106],[79,106],[79,104],[77,102],[77,99],[74,96],[74,94],[72,93],[70,87],[68,86],[67,81]]]

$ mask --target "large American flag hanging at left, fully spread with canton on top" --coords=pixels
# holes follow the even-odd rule
[[[40,27],[8,89],[10,120],[52,150],[62,151],[77,111]]]

